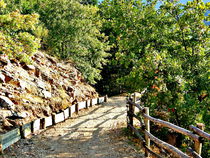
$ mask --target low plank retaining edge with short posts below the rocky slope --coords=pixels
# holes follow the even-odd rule
[[[30,123],[24,124],[23,126],[8,131],[5,134],[1,134],[0,153],[2,154],[3,150],[19,141],[21,138],[24,139],[33,133],[40,132],[43,129],[51,127],[57,123],[63,122],[66,119],[71,118],[73,113],[78,114],[79,111],[82,109],[88,109],[89,107],[92,107],[96,104],[107,102],[107,99],[107,96],[104,96],[79,102],[75,105],[66,108],[60,113],[52,114],[51,116],[34,120]]]

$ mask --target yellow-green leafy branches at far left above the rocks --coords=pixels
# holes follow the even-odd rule
[[[40,47],[41,36],[36,36],[38,14],[23,15],[19,10],[4,14],[6,4],[0,1],[0,52],[29,62],[29,57]],[[43,28],[42,28],[43,29]]]

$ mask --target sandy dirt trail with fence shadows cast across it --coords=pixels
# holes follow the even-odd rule
[[[109,98],[31,139],[20,140],[3,158],[135,158],[137,152],[117,128],[125,127],[124,97]]]

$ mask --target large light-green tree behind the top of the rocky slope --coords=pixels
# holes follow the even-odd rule
[[[73,0],[13,0],[24,13],[37,12],[49,30],[44,40],[52,55],[72,60],[90,83],[101,78],[108,49],[106,37],[100,33],[98,7]]]

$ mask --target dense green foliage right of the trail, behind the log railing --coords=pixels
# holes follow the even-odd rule
[[[147,88],[143,99],[153,115],[167,113],[167,121],[185,128],[203,122],[210,131],[210,41],[204,23],[210,5],[195,0],[155,6],[156,1],[138,0],[105,0],[100,5],[106,19],[103,31],[114,45],[109,72],[123,70],[110,76],[117,76],[128,92]]]

